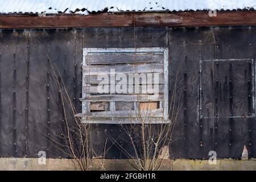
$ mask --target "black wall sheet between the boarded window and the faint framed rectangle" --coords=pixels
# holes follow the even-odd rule
[[[176,92],[182,93],[180,102],[183,104],[170,154],[173,158],[208,158],[208,152],[212,150],[212,130],[209,121],[200,119],[199,115],[199,71],[200,59],[214,57],[212,28],[173,29],[170,31],[169,44],[170,96],[177,80]]]

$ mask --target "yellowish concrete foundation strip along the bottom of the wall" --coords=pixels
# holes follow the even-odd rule
[[[0,158],[0,170],[76,170],[71,159],[47,159],[46,164],[39,165],[36,158]],[[92,160],[92,170],[135,170],[132,160],[105,159]],[[208,160],[165,159],[162,170],[197,171],[197,170],[249,170],[256,171],[256,160],[217,160],[216,165],[210,165]]]

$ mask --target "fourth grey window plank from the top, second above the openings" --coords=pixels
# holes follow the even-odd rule
[[[109,92],[110,93],[110,85],[104,85],[106,88],[109,88]],[[117,88],[117,86],[119,85],[115,85]],[[156,85],[151,85],[151,88],[148,87],[148,85],[137,85],[138,88],[139,88],[139,93],[140,94],[153,94],[153,93],[163,93],[163,90],[164,90],[164,85],[163,84],[159,84],[158,85],[158,88],[156,88],[155,86]],[[85,86],[84,89],[85,89],[85,92],[86,93],[89,93],[89,94],[96,94],[96,93],[100,93],[101,90],[99,89],[103,89],[103,85],[101,86]],[[138,93],[135,93],[135,85],[126,85],[126,92],[125,93],[122,93],[122,94],[138,94]],[[115,89],[115,93],[118,93],[119,90],[116,90]],[[119,93],[121,94],[121,93]]]

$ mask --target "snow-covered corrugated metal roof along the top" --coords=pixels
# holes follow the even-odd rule
[[[254,9],[256,0],[0,0],[0,13]]]

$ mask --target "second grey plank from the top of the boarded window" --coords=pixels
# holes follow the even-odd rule
[[[114,65],[114,66],[95,66],[95,65],[84,65],[82,67],[84,75],[102,75],[118,73],[162,73],[163,64],[160,63],[151,63],[151,64],[125,64],[125,65]],[[115,73],[114,73],[115,72]]]

